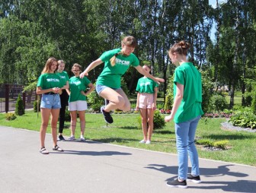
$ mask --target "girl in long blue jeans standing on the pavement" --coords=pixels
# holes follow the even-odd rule
[[[167,185],[178,188],[187,188],[187,181],[201,182],[194,137],[197,124],[203,115],[202,82],[200,72],[187,61],[189,46],[185,41],[181,41],[175,43],[168,51],[171,62],[177,68],[174,71],[174,103],[171,115],[165,117],[165,122],[174,119],[175,123],[178,179],[167,182]],[[192,167],[191,174],[187,175],[188,154]]]

